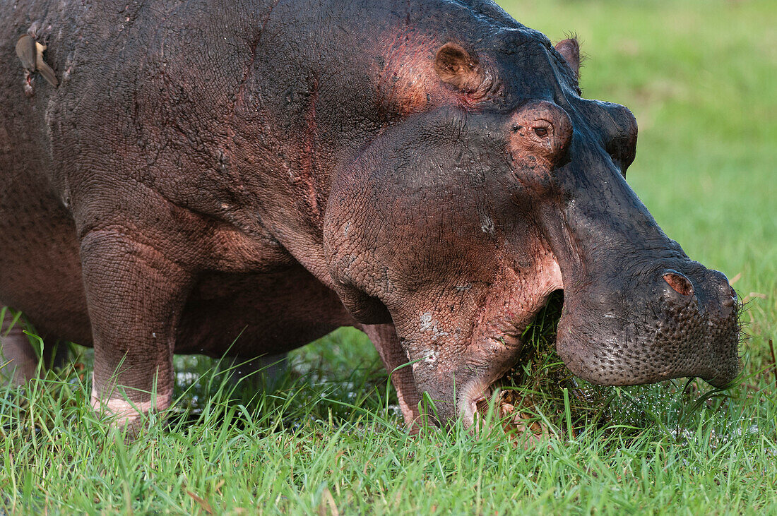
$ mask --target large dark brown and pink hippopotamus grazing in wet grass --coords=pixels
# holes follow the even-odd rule
[[[577,40],[486,0],[20,0],[0,35],[0,305],[93,346],[119,424],[175,353],[342,326],[407,424],[472,424],[559,289],[583,379],[737,376],[737,294],[629,188],[636,120],[582,97]]]

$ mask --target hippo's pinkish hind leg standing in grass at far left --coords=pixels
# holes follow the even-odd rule
[[[38,372],[40,352],[33,347],[24,331],[27,324],[8,307],[0,307],[0,381],[2,384],[22,385]],[[31,329],[31,328],[30,328]],[[61,367],[68,355],[68,346],[57,339],[45,338],[43,368]]]

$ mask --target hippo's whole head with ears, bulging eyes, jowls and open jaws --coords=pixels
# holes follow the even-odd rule
[[[394,324],[441,417],[472,421],[557,289],[556,346],[578,376],[733,380],[737,294],[625,182],[636,120],[581,98],[577,42],[519,27],[419,55],[415,82],[386,64],[385,129],[334,179],[324,238],[340,299]]]

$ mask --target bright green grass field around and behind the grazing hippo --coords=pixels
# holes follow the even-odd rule
[[[375,351],[344,329],[295,352],[300,377],[270,395],[178,358],[202,376],[180,374],[175,417],[126,445],[70,368],[0,390],[0,514],[777,513],[777,6],[503,6],[552,40],[577,32],[584,95],[636,114],[629,183],[747,300],[742,385],[700,403],[703,383],[613,390],[636,417],[571,428],[571,402],[540,403],[549,436],[528,449],[501,430],[410,438]]]

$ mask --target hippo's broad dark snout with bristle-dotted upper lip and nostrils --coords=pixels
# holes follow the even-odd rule
[[[685,376],[730,383],[739,371],[740,305],[726,276],[696,262],[653,270],[565,293],[556,347],[567,367],[601,385]],[[623,289],[596,292],[617,284]]]

